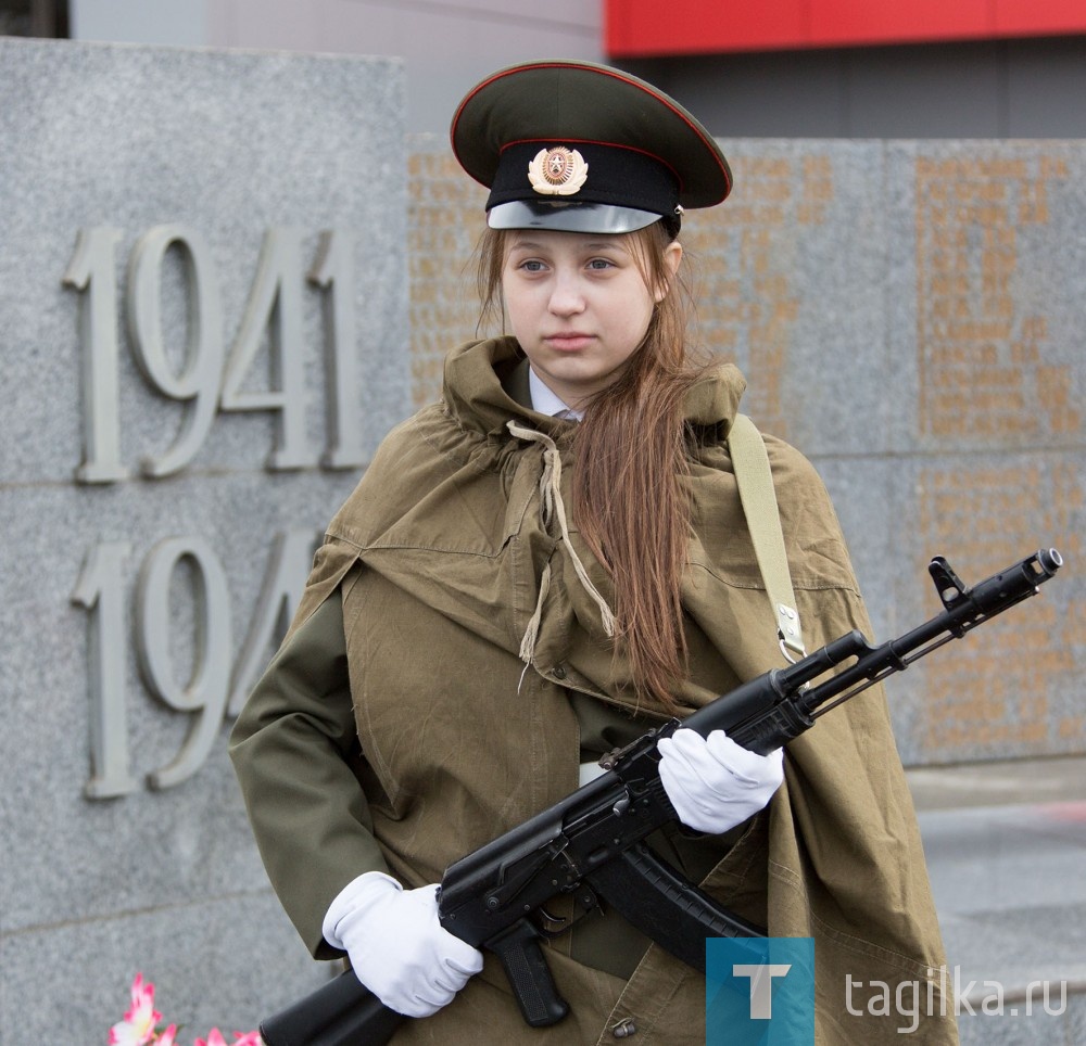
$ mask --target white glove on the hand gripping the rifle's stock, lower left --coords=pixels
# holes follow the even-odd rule
[[[438,921],[437,885],[404,890],[380,871],[349,882],[321,930],[351,957],[358,980],[405,1017],[435,1013],[482,969],[482,953]]]

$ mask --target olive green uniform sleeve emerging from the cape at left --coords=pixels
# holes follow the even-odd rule
[[[359,757],[337,589],[288,637],[250,696],[230,757],[268,878],[316,958],[320,926],[365,871],[388,871],[352,760]]]

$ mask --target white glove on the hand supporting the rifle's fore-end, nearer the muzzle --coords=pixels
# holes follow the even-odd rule
[[[723,730],[708,740],[678,729],[657,744],[660,780],[679,819],[695,831],[719,835],[757,814],[784,780],[784,753],[748,752]]]

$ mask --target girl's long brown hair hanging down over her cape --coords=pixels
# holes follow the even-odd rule
[[[660,221],[629,233],[648,288],[667,288],[622,374],[593,397],[573,442],[572,514],[611,575],[618,638],[639,700],[675,711],[686,672],[680,586],[690,539],[684,397],[703,370],[687,348],[689,285],[671,273]],[[483,319],[500,315],[506,235],[483,233],[478,277]]]

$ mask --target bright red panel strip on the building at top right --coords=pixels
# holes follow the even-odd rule
[[[1086,34],[1083,0],[605,0],[608,54]]]

